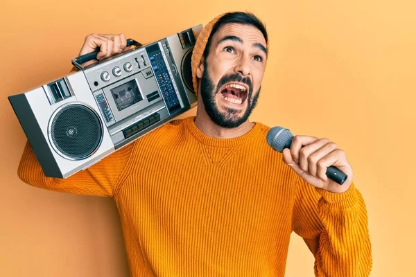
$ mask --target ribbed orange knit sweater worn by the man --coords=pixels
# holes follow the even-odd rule
[[[368,276],[361,194],[354,184],[342,194],[306,184],[268,146],[268,129],[214,139],[192,117],[175,120],[68,179],[45,177],[26,145],[19,177],[114,197],[132,276],[284,276],[292,231],[316,276]]]

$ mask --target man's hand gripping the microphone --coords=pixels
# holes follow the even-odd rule
[[[283,161],[306,183],[331,193],[344,193],[352,184],[352,167],[345,152],[329,139],[294,136],[291,148],[283,150]],[[327,177],[329,166],[336,166],[348,176],[343,185]]]

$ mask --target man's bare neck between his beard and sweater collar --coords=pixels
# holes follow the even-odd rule
[[[200,105],[196,111],[195,125],[202,133],[216,139],[234,139],[247,134],[254,127],[254,123],[249,120],[235,128],[218,126],[211,120],[204,107],[200,107]]]

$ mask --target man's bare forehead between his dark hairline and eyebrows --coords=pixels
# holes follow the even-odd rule
[[[247,24],[225,24],[216,31],[214,37],[212,37],[212,40],[214,44],[218,44],[220,39],[229,35],[234,35],[236,37],[241,38],[244,43],[261,43],[264,46],[266,46],[266,39],[264,38],[263,33],[261,33],[261,31],[258,28]]]

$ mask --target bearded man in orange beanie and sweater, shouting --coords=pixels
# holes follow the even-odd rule
[[[80,55],[98,47],[98,59],[120,53],[125,37],[89,35]],[[216,17],[193,51],[195,118],[174,120],[68,179],[45,177],[26,145],[19,177],[114,197],[132,276],[284,276],[292,231],[315,256],[315,276],[368,276],[367,212],[345,152],[295,136],[281,154],[266,143],[270,128],[248,120],[267,57],[257,17]],[[343,186],[325,175],[331,165],[348,175]]]

